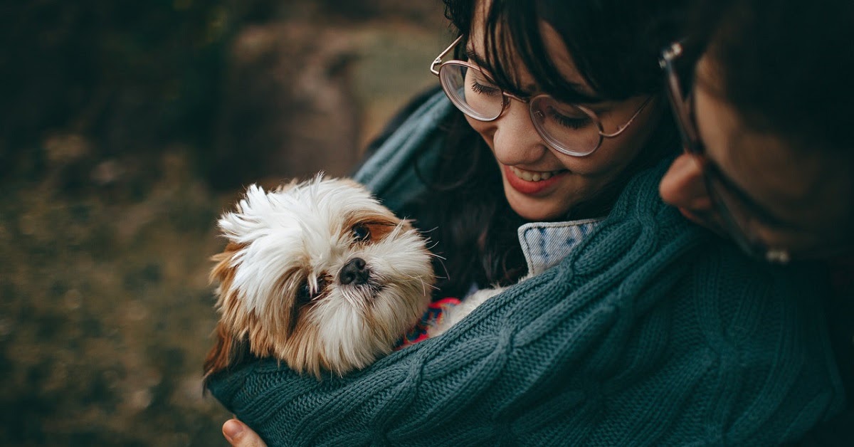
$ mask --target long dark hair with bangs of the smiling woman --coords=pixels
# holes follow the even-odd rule
[[[477,0],[444,0],[446,16],[468,38]],[[590,101],[553,66],[540,33],[541,21],[559,32],[580,74],[597,100],[623,100],[662,91],[658,53],[676,38],[681,0],[492,0],[485,18],[486,62],[496,82],[519,92],[515,58],[543,91],[567,102]],[[462,57],[465,42],[457,48]],[[661,120],[640,156],[610,187],[570,210],[568,219],[605,215],[629,176],[678,150],[669,109],[659,102]],[[483,139],[462,114],[445,123],[446,143],[432,187],[413,213],[445,258],[439,286],[445,296],[463,296],[471,285],[508,285],[526,273],[516,230],[524,223],[506,202],[500,172]],[[463,167],[463,168],[460,168]]]

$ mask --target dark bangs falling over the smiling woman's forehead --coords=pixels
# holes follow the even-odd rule
[[[676,40],[683,0],[444,0],[446,15],[465,40],[483,26],[483,68],[507,92],[526,97],[520,71],[565,103],[622,101],[662,92],[660,51]],[[479,19],[476,21],[475,18]],[[564,77],[546,55],[548,24],[583,79]],[[551,32],[550,32],[551,34]],[[457,50],[462,58],[465,51]]]

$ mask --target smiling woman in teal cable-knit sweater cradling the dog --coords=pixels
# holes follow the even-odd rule
[[[678,5],[605,3],[448,0],[468,62],[434,63],[451,103],[424,103],[357,175],[438,228],[442,292],[535,276],[341,379],[274,361],[214,376],[226,407],[270,444],[776,444],[839,411],[802,299],[814,268],[752,262],[658,199],[677,144],[655,55]]]

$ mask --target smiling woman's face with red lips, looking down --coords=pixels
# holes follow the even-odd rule
[[[477,17],[466,51],[483,59],[483,26],[479,25]],[[545,23],[541,32],[548,56],[564,78],[594,96],[594,91],[578,74],[558,32]],[[522,62],[514,69],[520,76],[525,95],[541,93]],[[582,105],[594,110],[605,132],[616,132],[645,100],[646,97],[633,97],[622,102]],[[556,221],[565,219],[577,203],[596,197],[638,156],[652,132],[653,121],[658,120],[656,109],[656,103],[647,105],[625,132],[617,138],[605,138],[598,150],[582,157],[550,149],[531,121],[528,103],[511,100],[504,114],[495,121],[471,118],[468,121],[492,150],[512,209],[529,221]]]

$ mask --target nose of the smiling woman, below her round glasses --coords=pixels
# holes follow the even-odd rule
[[[539,160],[547,146],[529,115],[529,104],[511,99],[504,115],[494,122],[495,158],[506,165],[525,165]]]

